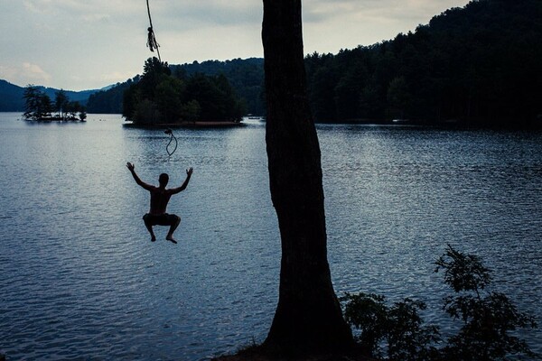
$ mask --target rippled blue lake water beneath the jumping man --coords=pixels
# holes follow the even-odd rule
[[[266,337],[280,245],[264,125],[126,128],[120,116],[33,124],[0,114],[0,352],[8,360],[202,360]],[[319,125],[336,291],[429,303],[446,244],[542,321],[542,134]],[[147,182],[188,189],[179,245],[149,241]],[[170,183],[170,184],[171,184]],[[542,331],[522,333],[542,352]]]

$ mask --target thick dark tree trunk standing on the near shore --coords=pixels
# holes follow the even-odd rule
[[[264,0],[266,149],[282,242],[279,300],[265,347],[286,353],[353,344],[327,261],[320,145],[305,90],[301,0]]]

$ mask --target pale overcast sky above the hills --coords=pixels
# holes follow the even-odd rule
[[[263,57],[260,0],[149,0],[162,60]],[[337,53],[414,31],[468,0],[304,0],[304,52]],[[141,73],[145,0],[1,0],[0,79],[103,88]]]

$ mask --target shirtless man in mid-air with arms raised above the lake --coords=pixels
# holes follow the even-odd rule
[[[168,190],[165,188],[169,180],[169,176],[167,175],[167,173],[160,174],[160,177],[158,178],[159,186],[154,187],[139,179],[137,174],[135,174],[134,164],[132,164],[131,162],[127,162],[126,167],[132,173],[135,182],[151,193],[151,208],[149,210],[149,213],[146,213],[145,216],[143,216],[145,227],[151,234],[151,241],[154,242],[156,240],[156,236],[154,236],[153,226],[170,226],[169,232],[167,233],[167,236],[165,236],[165,239],[176,244],[177,241],[175,241],[175,239],[173,238],[173,232],[175,231],[175,229],[177,229],[177,227],[179,227],[179,224],[181,223],[181,218],[177,215],[166,213],[165,208],[167,208],[167,203],[172,198],[173,194],[177,194],[182,190],[186,189],[186,186],[188,185],[188,182],[192,177],[192,168],[186,170],[186,180],[184,180],[181,187]]]

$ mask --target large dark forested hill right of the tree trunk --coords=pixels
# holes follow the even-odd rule
[[[540,124],[542,1],[479,0],[388,42],[306,59],[319,121]]]

